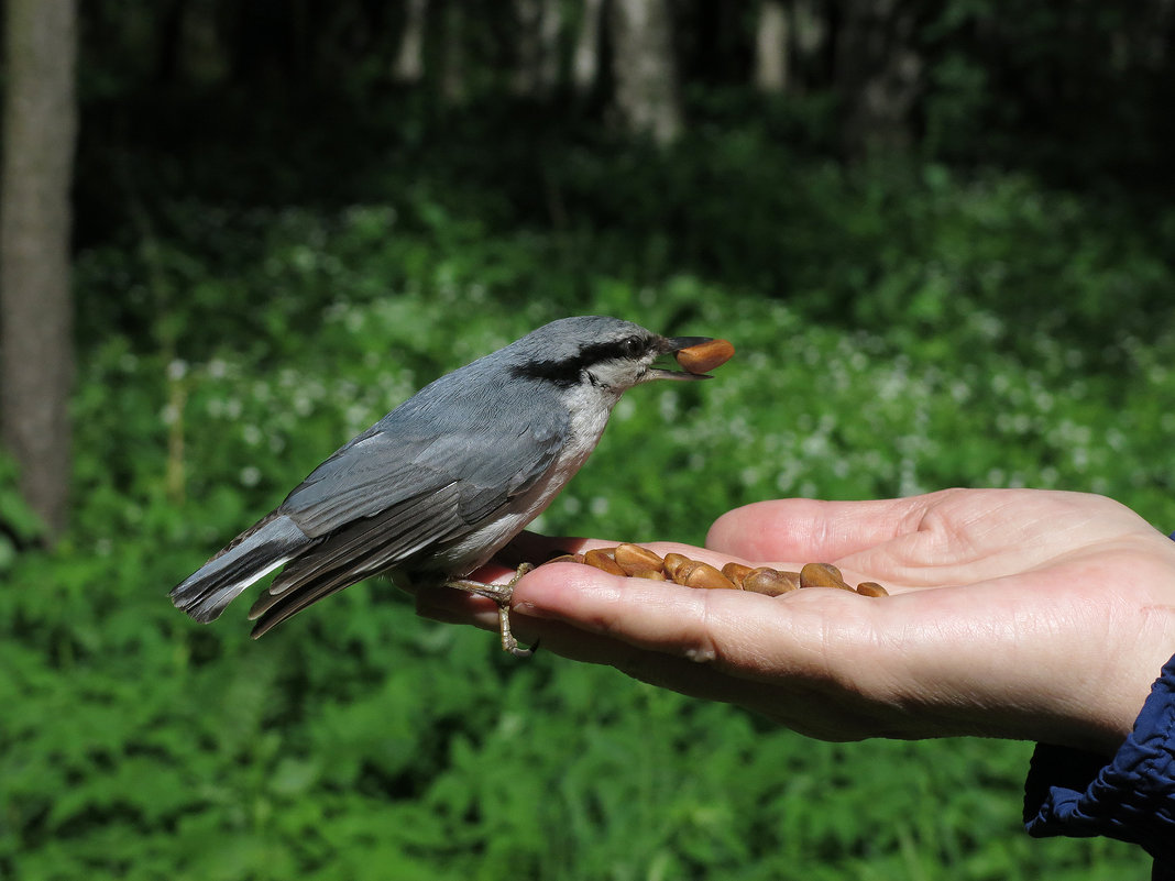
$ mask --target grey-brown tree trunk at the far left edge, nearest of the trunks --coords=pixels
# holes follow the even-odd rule
[[[73,381],[69,188],[75,0],[7,0],[0,169],[0,437],[51,534],[65,529]]]

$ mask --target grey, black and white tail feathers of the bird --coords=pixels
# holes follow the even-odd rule
[[[213,621],[246,587],[314,542],[288,516],[270,515],[176,585],[172,601],[201,624]]]

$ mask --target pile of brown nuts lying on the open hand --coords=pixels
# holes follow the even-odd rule
[[[831,563],[808,563],[799,572],[780,571],[770,566],[744,566],[727,563],[721,570],[709,563],[691,560],[685,554],[666,553],[664,557],[640,545],[623,544],[616,547],[596,547],[585,553],[568,553],[548,563],[582,563],[613,576],[651,578],[673,581],[686,587],[751,591],[778,597],[803,587],[837,587],[862,597],[888,597],[877,581],[862,581],[853,589],[840,570]]]

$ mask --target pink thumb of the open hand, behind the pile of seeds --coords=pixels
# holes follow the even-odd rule
[[[870,502],[757,502],[719,517],[706,536],[706,547],[752,560],[837,560],[916,529],[936,495]]]

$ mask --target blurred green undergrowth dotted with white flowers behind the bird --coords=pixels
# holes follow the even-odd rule
[[[328,114],[239,143],[256,108],[197,97],[133,154],[83,146],[52,552],[0,462],[0,877],[1143,876],[1116,842],[1027,839],[1026,744],[807,740],[518,664],[380,580],[258,643],[235,607],[202,627],[166,598],[415,389],[568,314],[739,355],[629,395],[543,531],[700,543],[757,499],[948,485],[1103,492],[1175,527],[1175,211],[945,164],[978,88],[948,61],[941,156],[858,166],[803,148],[826,96],[719,90],[665,154],[402,95],[345,141]],[[223,127],[180,126],[194,106]]]

